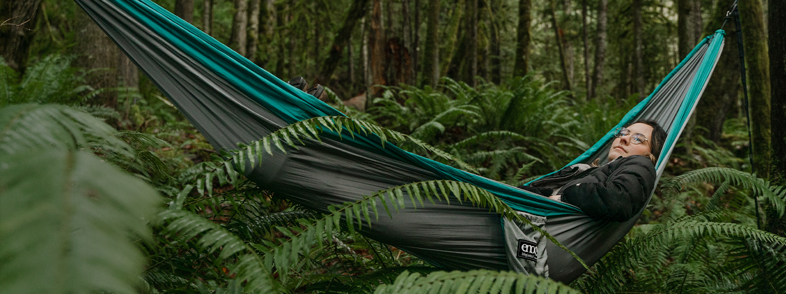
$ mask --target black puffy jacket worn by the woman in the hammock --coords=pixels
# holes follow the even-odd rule
[[[564,183],[557,192],[562,194],[562,201],[577,206],[587,216],[623,222],[644,207],[655,188],[655,176],[655,165],[649,158],[632,155],[583,172],[575,167],[562,169],[533,182],[531,187],[522,188],[548,196],[552,191],[547,187],[549,182]],[[557,179],[561,180],[555,181]]]

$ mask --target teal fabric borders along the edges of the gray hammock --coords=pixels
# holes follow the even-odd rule
[[[119,8],[124,9],[127,13],[136,17],[136,20],[141,24],[150,27],[152,31],[160,34],[162,38],[170,40],[178,49],[182,49],[185,53],[194,56],[196,60],[204,65],[204,67],[208,67],[212,71],[215,71],[216,74],[225,78],[227,82],[230,82],[237,89],[254,98],[255,102],[259,103],[261,106],[269,110],[276,110],[272,112],[289,124],[320,116],[346,116],[333,107],[330,107],[327,103],[317,100],[313,96],[303,93],[291,85],[288,85],[286,82],[281,81],[281,79],[253,64],[244,56],[235,53],[226,45],[218,42],[215,38],[193,27],[193,25],[188,24],[178,16],[174,16],[174,14],[150,0],[112,0],[112,2],[115,2]],[[663,79],[663,82],[661,82],[645,100],[638,103],[636,107],[625,115],[623,120],[619,122],[615,128],[625,125],[630,122],[630,120],[634,119],[637,114],[645,108],[652,96],[654,96],[658,90],[681,69],[687,60],[689,60],[701,46],[705,45],[707,42],[711,42],[707,56],[705,56],[702,61],[699,74],[696,74],[696,77],[692,81],[689,92],[681,104],[677,118],[675,118],[675,123],[670,129],[666,145],[664,145],[664,150],[673,147],[682,126],[685,124],[698,96],[703,90],[703,86],[706,84],[706,79],[711,73],[714,66],[713,61],[722,44],[723,34],[724,32],[722,30],[718,30],[712,36],[704,38],[699,45],[696,45],[696,48],[681,61],[678,67],[675,67],[674,70]],[[714,38],[716,36],[720,36],[720,38]],[[710,56],[713,58],[708,58]],[[589,156],[598,151],[604,143],[608,140],[612,140],[614,129],[607,132],[601,140],[593,145],[593,147],[590,147],[589,150],[585,151],[566,166],[582,162],[586,160],[586,158],[589,158]],[[332,132],[326,132],[323,136],[339,139],[339,136]],[[543,198],[540,195],[522,191],[505,183],[499,183],[483,176],[478,176],[449,165],[444,165],[440,162],[435,162],[420,155],[404,151],[391,143],[382,147],[380,138],[374,134],[369,136],[355,134],[354,137],[342,136],[340,140],[361,147],[367,151],[373,151],[377,154],[384,154],[391,158],[398,158],[405,162],[411,162],[414,165],[435,172],[438,176],[443,177],[443,180],[456,180],[471,183],[477,187],[486,189],[501,198],[501,200],[512,209],[538,216],[582,214],[581,210],[573,205]],[[666,157],[662,156],[656,166],[663,165],[664,158]]]

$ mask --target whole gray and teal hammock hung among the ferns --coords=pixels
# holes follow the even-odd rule
[[[216,149],[235,150],[237,143],[260,140],[308,118],[344,115],[149,0],[75,1]],[[667,130],[656,164],[658,175],[707,85],[722,51],[723,36],[723,31],[717,31],[704,38],[619,122],[622,126],[647,118]],[[610,130],[568,165],[605,158],[613,139]],[[407,183],[470,183],[531,220],[545,223],[549,234],[590,265],[611,250],[641,215],[624,223],[596,220],[573,205],[443,165],[391,143],[383,146],[374,134],[339,137],[325,132],[321,142],[303,142],[298,149],[264,157],[261,165],[250,172],[247,169],[245,175],[260,187],[320,212],[327,212],[329,205],[358,201],[362,195]],[[362,234],[447,270],[516,269],[509,265],[504,236],[509,233],[503,232],[500,216],[466,202],[427,201],[424,208],[402,209],[392,218],[383,212]],[[544,243],[540,247],[545,247],[548,259],[541,266],[548,266],[550,278],[568,283],[585,271],[568,252]]]

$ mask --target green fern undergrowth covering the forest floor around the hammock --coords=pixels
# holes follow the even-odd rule
[[[359,233],[431,198],[518,217],[480,188],[412,183],[320,214],[245,179],[244,169],[321,130],[375,132],[519,185],[581,154],[636,96],[586,102],[534,76],[476,87],[443,78],[436,89],[389,87],[365,112],[337,103],[350,118],[299,122],[219,153],[156,90],[93,89],[72,60],[46,56],[21,76],[0,60],[3,293],[786,292],[786,238],[757,228],[755,204],[782,216],[786,190],[746,172],[737,118],[720,145],[699,135],[678,144],[639,224],[562,285],[506,271],[445,272]],[[119,93],[118,107],[90,105],[103,91]],[[417,199],[400,193],[414,190]],[[390,209],[377,212],[375,201]]]

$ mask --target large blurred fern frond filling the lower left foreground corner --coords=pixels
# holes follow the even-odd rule
[[[159,199],[89,152],[0,152],[0,289],[136,293]]]

